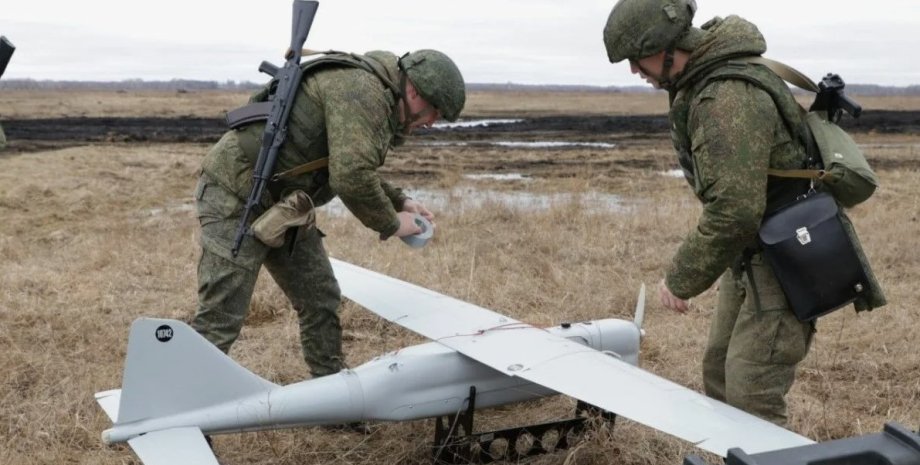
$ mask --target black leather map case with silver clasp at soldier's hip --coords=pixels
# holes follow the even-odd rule
[[[763,255],[799,321],[810,321],[860,297],[868,279],[826,192],[811,193],[767,217]]]

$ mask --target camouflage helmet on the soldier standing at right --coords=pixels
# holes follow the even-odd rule
[[[607,57],[638,60],[677,45],[694,13],[695,0],[620,0],[604,27]]]

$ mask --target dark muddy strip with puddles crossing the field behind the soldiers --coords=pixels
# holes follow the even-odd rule
[[[476,117],[467,116],[466,120]],[[512,123],[472,127],[442,127],[418,131],[391,157],[383,171],[402,180],[430,180],[450,173],[522,173],[543,178],[622,177],[631,170],[675,168],[667,116],[557,115],[502,119]],[[75,147],[95,143],[159,144],[215,142],[226,130],[219,118],[76,117],[3,121],[10,145],[0,156]],[[920,156],[903,156],[915,149],[903,144],[920,134],[920,111],[867,111],[859,120],[845,116],[841,126],[860,143],[898,145],[887,152],[870,150],[876,169],[920,169]],[[582,144],[568,147],[502,146],[496,142]],[[890,142],[897,142],[891,144]],[[613,147],[616,147],[615,149]],[[643,147],[643,150],[623,150]],[[903,149],[903,150],[902,150]],[[896,155],[888,152],[899,152]],[[202,152],[204,153],[204,152]]]

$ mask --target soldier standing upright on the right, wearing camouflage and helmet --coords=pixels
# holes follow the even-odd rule
[[[634,74],[668,91],[678,161],[703,204],[661,282],[662,305],[686,312],[687,299],[721,276],[703,358],[706,394],[784,425],[785,394],[814,326],[793,314],[757,231],[809,187],[767,175],[805,167],[800,108],[782,79],[747,61],[767,48],[756,26],[729,16],[695,28],[695,11],[694,0],[620,0],[604,44],[612,63],[629,60]],[[884,303],[870,294],[881,301],[858,309]]]

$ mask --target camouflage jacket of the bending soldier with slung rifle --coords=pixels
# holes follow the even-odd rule
[[[343,55],[345,59],[349,55]],[[396,55],[363,56],[391,83],[398,83]],[[265,89],[252,101],[266,97]],[[323,64],[304,73],[288,121],[288,135],[275,172],[329,157],[328,169],[305,173],[270,186],[273,200],[294,189],[305,191],[315,205],[336,195],[365,226],[388,237],[399,228],[396,212],[406,196],[377,174],[387,152],[399,141],[397,97],[375,74],[359,67]],[[202,171],[246,199],[259,155],[264,123],[230,130],[202,162]],[[268,196],[265,196],[268,197]]]

